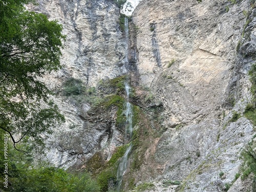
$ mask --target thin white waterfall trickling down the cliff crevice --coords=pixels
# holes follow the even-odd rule
[[[128,61],[128,45],[129,45],[129,27],[128,27],[128,18],[125,17],[124,20],[124,32],[125,32],[125,41],[126,41],[126,47],[125,47],[125,72],[127,73],[127,71],[129,70],[129,61]],[[126,79],[125,82],[125,91],[126,91],[126,96],[127,96],[127,102],[126,102],[126,110],[125,110],[125,118],[126,118],[126,126],[125,126],[125,136],[127,141],[130,141],[130,139],[132,138],[132,134],[133,134],[133,123],[132,123],[132,119],[133,119],[133,106],[132,104],[129,102],[129,96],[130,96],[130,86],[129,83],[127,82],[128,79]],[[117,191],[121,190],[121,185],[122,185],[122,180],[123,180],[123,176],[126,172],[127,169],[127,160],[128,160],[128,155],[130,153],[132,149],[132,143],[129,144],[129,147],[127,147],[120,163],[118,166],[118,170],[117,170],[117,181],[118,181],[118,185],[117,185]]]

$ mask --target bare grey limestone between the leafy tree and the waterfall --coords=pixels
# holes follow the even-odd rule
[[[38,4],[28,9],[44,13],[50,20],[58,20],[66,35],[60,60],[62,69],[42,80],[57,93],[51,99],[66,117],[66,123],[56,127],[47,141],[48,158],[67,168],[86,161],[104,147],[110,134],[118,139],[119,132],[110,120],[111,114],[93,114],[89,122],[87,111],[91,106],[62,97],[61,91],[63,82],[71,77],[82,80],[83,86],[95,87],[99,80],[113,79],[124,73],[125,42],[119,30],[120,10],[108,0],[39,0]],[[116,143],[120,145],[116,139],[110,141],[106,158],[111,157]]]

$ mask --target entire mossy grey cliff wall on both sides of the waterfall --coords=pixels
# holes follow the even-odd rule
[[[125,191],[144,182],[155,186],[147,191],[252,191],[252,180],[236,175],[255,134],[243,116],[252,97],[254,7],[249,0],[142,0],[130,18],[127,73],[114,1],[31,6],[59,20],[67,35],[62,70],[43,79],[66,117],[47,141],[48,159],[92,174],[109,167],[126,144],[121,111],[129,77],[135,113]],[[63,94],[71,77],[87,94]],[[241,116],[234,121],[236,113]]]

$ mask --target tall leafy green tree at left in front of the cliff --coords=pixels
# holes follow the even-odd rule
[[[56,105],[46,105],[53,92],[38,80],[60,69],[65,36],[57,21],[26,11],[27,3],[34,1],[0,1],[0,129],[15,148],[27,140],[40,149],[51,128],[65,120]]]

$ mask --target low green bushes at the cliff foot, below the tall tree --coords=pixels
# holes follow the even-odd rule
[[[4,131],[0,131],[1,141]],[[28,151],[29,146],[18,144],[19,148]],[[4,162],[4,147],[0,148],[0,162]],[[4,163],[0,164],[0,177],[4,178]],[[91,176],[84,172],[71,174],[61,168],[34,159],[14,148],[8,148],[8,188],[0,186],[0,191],[26,192],[96,192],[99,187]]]

